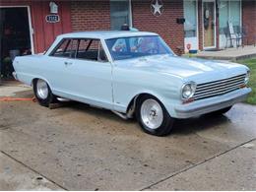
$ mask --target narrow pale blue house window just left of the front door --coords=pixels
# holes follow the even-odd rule
[[[197,36],[197,1],[184,1],[185,37]]]

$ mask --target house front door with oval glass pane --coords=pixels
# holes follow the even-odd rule
[[[216,7],[215,1],[203,1],[204,49],[216,48]]]

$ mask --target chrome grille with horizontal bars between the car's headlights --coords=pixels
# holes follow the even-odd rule
[[[212,96],[221,96],[238,90],[241,86],[244,85],[245,75],[246,74],[242,74],[224,80],[199,84],[197,85],[193,98],[198,100]]]

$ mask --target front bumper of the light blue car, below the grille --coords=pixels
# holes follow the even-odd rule
[[[223,96],[215,96],[208,99],[197,100],[191,103],[175,107],[177,118],[189,118],[220,110],[244,100],[251,92],[250,88],[244,88]]]

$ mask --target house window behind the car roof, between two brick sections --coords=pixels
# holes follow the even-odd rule
[[[110,0],[111,30],[120,30],[123,24],[131,26],[130,0]]]

